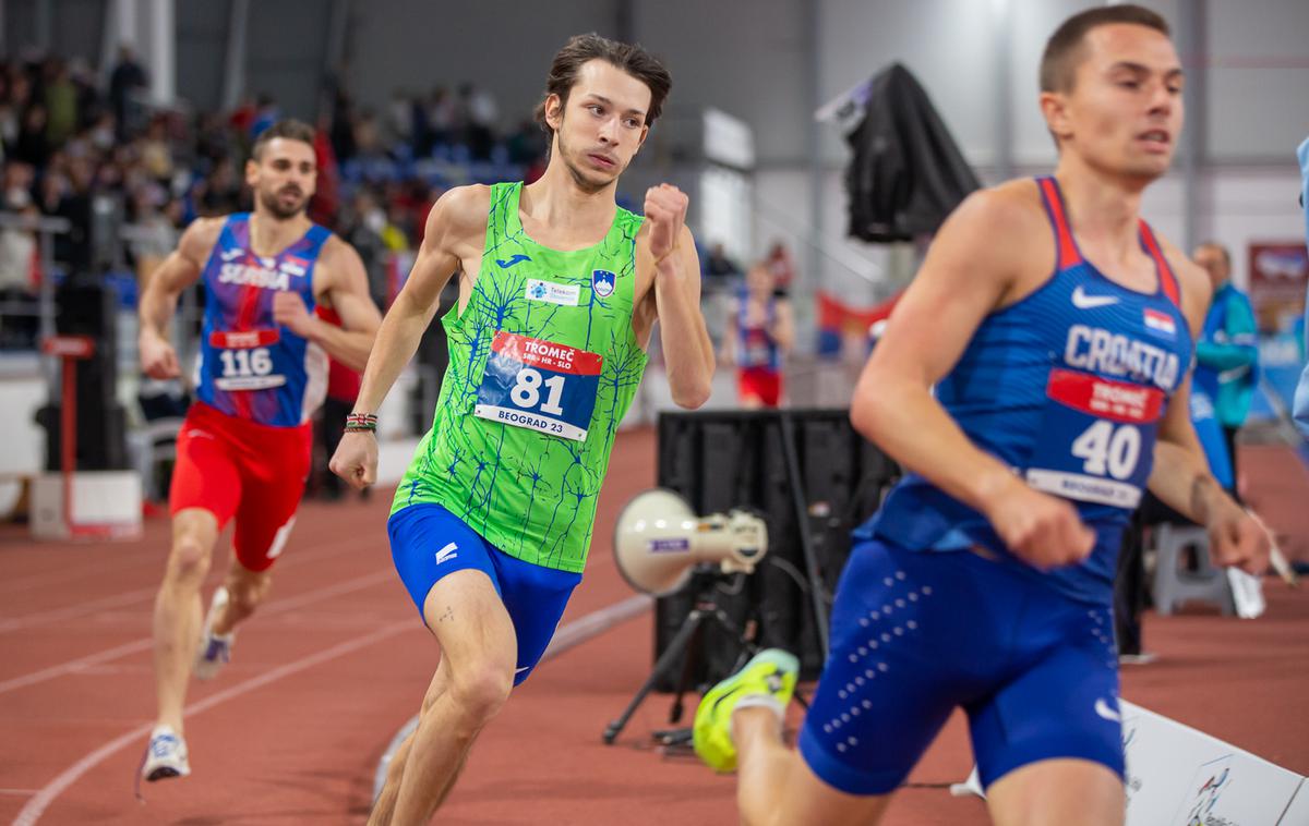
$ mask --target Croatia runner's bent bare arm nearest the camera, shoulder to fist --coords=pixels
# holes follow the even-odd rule
[[[1030,183],[969,196],[891,312],[851,405],[856,430],[984,514],[1016,554],[1043,569],[1085,558],[1094,533],[1068,502],[1033,490],[974,446],[932,396],[932,386],[1021,277],[1034,268],[1052,271],[1052,242],[1046,255],[1033,254],[1033,239],[1049,235]]]

